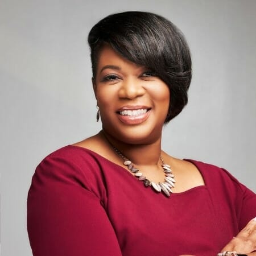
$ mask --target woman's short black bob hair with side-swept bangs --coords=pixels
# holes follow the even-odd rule
[[[170,106],[165,123],[176,117],[188,102],[191,56],[182,32],[162,16],[127,11],[107,16],[89,32],[93,77],[102,47],[155,72],[170,90]]]

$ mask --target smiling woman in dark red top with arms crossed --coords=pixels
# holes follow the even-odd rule
[[[191,81],[181,32],[161,16],[126,12],[102,19],[88,42],[102,130],[36,169],[34,255],[255,255],[255,194],[221,168],[161,150]]]

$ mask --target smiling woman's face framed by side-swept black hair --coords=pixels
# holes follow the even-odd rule
[[[125,143],[160,139],[170,92],[152,71],[104,46],[93,86],[106,133]]]

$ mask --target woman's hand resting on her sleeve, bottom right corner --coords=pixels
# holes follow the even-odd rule
[[[236,251],[237,254],[256,256],[256,218],[249,221],[221,251]]]

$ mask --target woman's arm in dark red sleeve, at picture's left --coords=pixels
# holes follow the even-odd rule
[[[100,199],[70,164],[44,160],[28,192],[27,228],[34,256],[121,256]]]

